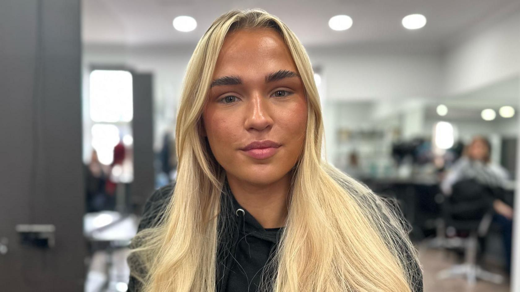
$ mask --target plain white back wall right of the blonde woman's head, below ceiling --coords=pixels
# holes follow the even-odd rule
[[[435,52],[358,52],[312,49],[313,65],[322,68],[330,100],[387,100],[435,97],[441,86],[441,59]]]

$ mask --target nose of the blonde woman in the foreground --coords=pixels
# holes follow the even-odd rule
[[[272,126],[269,100],[261,94],[252,95],[246,115],[245,127],[248,130],[263,130]]]

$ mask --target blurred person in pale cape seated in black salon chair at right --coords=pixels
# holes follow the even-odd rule
[[[510,273],[513,202],[512,198],[504,192],[508,179],[508,171],[491,162],[491,143],[489,140],[482,136],[476,136],[467,145],[465,155],[449,169],[440,187],[446,195],[451,195],[452,187],[457,182],[474,180],[491,190],[486,192],[490,197],[482,198],[480,202],[492,204],[489,207],[495,211],[493,220],[502,227],[506,270]]]

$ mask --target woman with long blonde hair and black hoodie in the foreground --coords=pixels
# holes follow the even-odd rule
[[[405,222],[322,143],[294,33],[263,10],[217,18],[188,64],[177,179],[145,206],[129,291],[422,291]]]

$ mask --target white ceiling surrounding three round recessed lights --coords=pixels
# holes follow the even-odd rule
[[[83,0],[85,44],[127,46],[197,43],[212,21],[233,8],[262,8],[278,16],[306,46],[396,45],[440,49],[452,39],[498,21],[520,9],[518,0]],[[418,31],[401,26],[402,17],[420,13],[427,24]],[[336,32],[330,17],[346,14],[354,25]],[[173,29],[172,20],[189,15],[198,22],[193,32]]]

